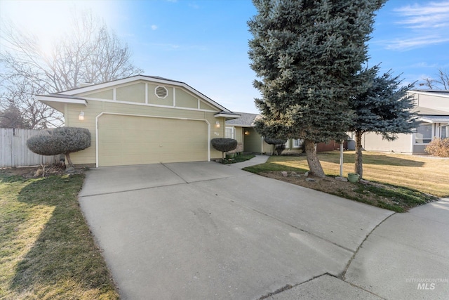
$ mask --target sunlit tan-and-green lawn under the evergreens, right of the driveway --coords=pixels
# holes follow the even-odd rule
[[[245,169],[394,211],[406,211],[436,199],[427,194],[449,197],[449,159],[363,152],[363,178],[370,181],[368,185],[344,183],[332,178],[340,175],[340,152],[321,152],[319,159],[329,176],[324,180],[315,178],[315,181],[305,181],[304,176],[281,176],[281,171],[295,171],[298,174],[307,171],[309,167],[305,155],[276,155],[265,164]],[[354,151],[344,152],[343,170],[343,176],[354,172]]]

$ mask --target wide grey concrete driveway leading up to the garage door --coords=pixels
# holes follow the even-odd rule
[[[354,254],[391,211],[215,162],[92,169],[79,202],[121,299],[380,299]]]

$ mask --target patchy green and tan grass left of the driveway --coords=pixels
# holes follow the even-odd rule
[[[0,174],[0,299],[119,299],[79,208],[83,178]]]

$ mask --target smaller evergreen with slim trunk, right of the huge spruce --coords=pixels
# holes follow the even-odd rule
[[[413,84],[401,86],[399,76],[393,77],[391,70],[378,75],[379,67],[375,66],[363,73],[370,87],[364,93],[351,98],[351,108],[356,119],[351,126],[356,138],[356,162],[354,171],[363,176],[362,136],[366,132],[382,135],[387,141],[394,141],[396,133],[411,133],[418,125],[413,97],[407,96],[407,91],[413,89]]]

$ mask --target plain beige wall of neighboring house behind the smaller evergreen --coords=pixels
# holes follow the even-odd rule
[[[412,134],[400,133],[395,141],[386,141],[376,133],[365,133],[362,138],[363,149],[367,151],[412,153]]]

